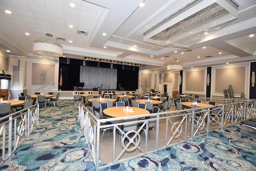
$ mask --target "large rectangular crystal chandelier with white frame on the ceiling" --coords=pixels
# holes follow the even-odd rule
[[[196,0],[143,34],[143,41],[189,49],[237,19],[233,0]]]

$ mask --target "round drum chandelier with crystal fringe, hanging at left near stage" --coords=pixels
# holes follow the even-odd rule
[[[33,42],[33,53],[39,55],[39,58],[46,60],[58,60],[63,54],[62,46],[53,38],[52,34],[46,33],[46,36]]]

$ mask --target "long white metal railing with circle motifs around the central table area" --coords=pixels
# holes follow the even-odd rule
[[[225,100],[226,99],[222,99],[222,102]],[[117,117],[97,119],[89,109],[82,105],[82,103],[78,102],[78,120],[83,130],[85,141],[88,144],[96,165],[96,170],[98,170],[142,155],[157,153],[161,149],[165,149],[188,140],[193,140],[196,137],[207,135],[210,129],[223,129],[228,125],[238,123],[250,117],[250,115],[255,112],[255,107],[256,101],[233,101],[233,103],[231,103],[231,101],[226,101],[226,104],[220,103],[210,108],[200,107],[196,109],[167,111],[163,113],[139,115],[132,118]],[[198,109],[200,109],[200,111],[197,111]],[[182,114],[177,115],[177,112]],[[149,118],[147,118],[147,116]],[[145,117],[146,119],[141,119]],[[127,119],[137,120],[128,121]],[[124,120],[126,121],[124,122]],[[106,121],[111,121],[112,124],[101,124]],[[148,139],[148,125],[151,121],[156,122],[156,139],[154,140],[153,148],[152,143],[150,147],[148,146],[148,141],[152,140]],[[125,133],[121,129],[122,126],[131,124],[140,124],[141,126],[138,127],[137,130],[129,131],[128,133]],[[140,138],[140,131],[142,131],[142,127],[144,126],[146,127],[146,138],[142,141]],[[108,142],[112,141],[110,144],[113,144],[113,146],[108,146],[108,150],[111,148],[112,152],[107,151],[109,157],[111,157],[111,161],[107,163],[100,162],[100,153],[106,153],[105,150],[107,150],[100,150],[100,130],[104,127],[113,127],[113,138],[108,140]],[[160,130],[165,130],[165,134],[163,135]],[[120,142],[120,138],[118,139],[116,133],[119,133],[119,137],[124,136],[128,139],[128,144],[125,144],[127,141],[124,141],[124,138]],[[130,133],[133,133],[133,136],[128,136]],[[120,150],[120,143],[122,150]],[[131,151],[135,151],[136,154],[134,155],[134,153],[130,153]]]

